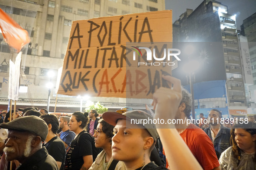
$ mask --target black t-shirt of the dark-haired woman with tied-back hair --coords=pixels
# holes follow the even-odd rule
[[[80,132],[67,149],[65,170],[80,170],[84,164],[83,156],[92,155],[91,137]]]

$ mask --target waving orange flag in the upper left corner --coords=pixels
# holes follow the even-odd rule
[[[17,52],[19,52],[21,48],[30,41],[28,31],[19,26],[19,24],[3,12],[1,8],[0,28],[6,43],[15,48]]]

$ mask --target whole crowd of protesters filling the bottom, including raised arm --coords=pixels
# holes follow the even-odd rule
[[[222,113],[200,113],[194,124],[133,124],[132,119],[186,120],[191,95],[178,79],[153,95],[154,117],[124,107],[99,117],[70,117],[36,107],[0,114],[0,170],[255,170],[256,123],[220,123]],[[204,123],[208,119],[208,123]],[[227,119],[226,119],[227,120]]]

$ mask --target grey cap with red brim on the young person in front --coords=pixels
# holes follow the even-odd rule
[[[142,111],[142,110],[130,110],[125,113],[117,113],[113,111],[107,111],[102,114],[102,118],[109,123],[110,125],[116,126],[117,120],[124,119],[124,120],[142,120],[142,119],[153,119],[152,116],[150,116],[148,113]],[[129,121],[130,122],[130,121]],[[152,121],[153,122],[153,121]],[[154,123],[145,123],[140,124],[145,127],[145,129],[149,132],[149,134],[153,137],[154,141],[156,141],[158,134],[156,132],[156,126]]]

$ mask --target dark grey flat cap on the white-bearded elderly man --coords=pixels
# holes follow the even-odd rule
[[[38,116],[19,117],[8,123],[0,124],[0,127],[3,129],[31,132],[40,136],[42,141],[45,141],[48,134],[47,124]]]

